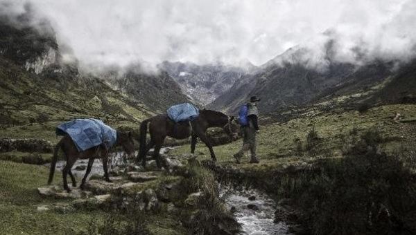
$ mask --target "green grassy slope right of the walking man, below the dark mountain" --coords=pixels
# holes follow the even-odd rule
[[[306,134],[313,129],[318,132],[322,143],[318,147],[331,149],[334,156],[340,156],[340,146],[343,138],[346,138],[353,131],[354,127],[361,132],[365,129],[375,127],[381,131],[388,142],[384,149],[392,151],[401,143],[415,142],[416,135],[411,128],[415,128],[415,122],[403,122],[396,124],[392,122],[395,113],[401,113],[404,120],[416,120],[416,105],[387,105],[370,109],[360,114],[358,111],[347,111],[344,113],[326,112],[319,113],[311,111],[303,117],[293,119],[289,122],[269,124],[261,126],[261,133],[257,137],[257,154],[261,160],[260,164],[248,164],[250,158],[243,158],[240,167],[243,168],[264,168],[277,167],[288,162],[309,162],[314,158],[300,156],[296,151],[295,139],[299,138],[303,143]],[[232,154],[239,151],[242,140],[232,144],[214,147],[218,161],[224,164],[234,162]],[[173,150],[173,154],[189,153],[189,144]],[[196,153],[199,159],[209,159],[209,151],[205,144],[198,143]],[[247,153],[249,154],[249,153]]]

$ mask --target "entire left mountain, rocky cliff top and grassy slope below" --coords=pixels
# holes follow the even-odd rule
[[[72,118],[137,128],[155,114],[150,102],[65,63],[51,27],[28,22],[26,15],[0,17],[0,137],[53,139],[56,124]]]

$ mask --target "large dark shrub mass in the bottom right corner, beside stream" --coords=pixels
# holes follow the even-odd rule
[[[367,131],[343,159],[281,179],[312,234],[416,233],[415,178],[399,158],[379,153],[381,140]]]

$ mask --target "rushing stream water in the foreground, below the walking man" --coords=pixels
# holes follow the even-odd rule
[[[288,226],[285,223],[273,223],[275,201],[260,191],[255,189],[237,191],[221,186],[220,195],[225,198],[229,209],[232,207],[235,209],[234,215],[241,224],[244,234],[289,234]],[[249,200],[250,196],[255,199]]]

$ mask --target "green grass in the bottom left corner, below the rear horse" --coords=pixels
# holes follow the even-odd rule
[[[30,164],[0,161],[0,234],[69,234],[86,229],[91,220],[102,220],[105,212],[37,212],[37,205],[64,200],[42,198],[37,187],[45,185],[49,169]],[[55,182],[61,182],[56,172]],[[71,230],[72,228],[75,231]]]

